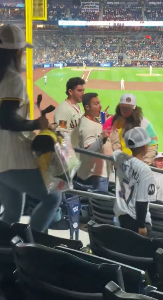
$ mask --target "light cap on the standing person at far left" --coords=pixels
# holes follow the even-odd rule
[[[0,49],[33,48],[26,42],[24,31],[17,25],[4,25],[0,27]]]

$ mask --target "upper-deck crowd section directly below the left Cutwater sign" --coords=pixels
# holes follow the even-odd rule
[[[141,21],[141,6],[138,5],[110,5],[103,9],[103,21]]]

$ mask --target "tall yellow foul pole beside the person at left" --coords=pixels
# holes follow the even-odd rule
[[[26,41],[32,44],[32,0],[25,0],[25,27],[26,27]],[[27,92],[30,99],[30,116],[33,120],[34,107],[33,107],[33,51],[32,49],[26,50],[27,60]]]

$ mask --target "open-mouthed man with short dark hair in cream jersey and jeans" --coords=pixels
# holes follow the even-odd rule
[[[84,115],[79,126],[79,146],[95,152],[102,152],[109,136],[103,131],[98,121],[101,112],[101,104],[97,93],[83,95]],[[91,184],[94,188],[108,190],[109,167],[105,160],[80,155],[81,166],[77,172],[78,180],[83,184]]]

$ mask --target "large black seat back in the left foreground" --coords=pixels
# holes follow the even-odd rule
[[[123,286],[119,265],[90,263],[61,250],[22,243],[19,237],[13,238],[12,245],[17,279],[31,297],[103,299],[103,289],[112,278]]]

